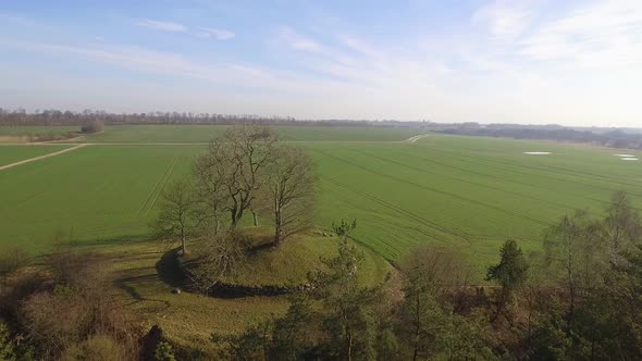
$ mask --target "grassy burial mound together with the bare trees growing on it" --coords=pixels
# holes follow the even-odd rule
[[[317,175],[308,155],[276,142],[269,128],[230,127],[194,170],[163,190],[153,224],[161,238],[181,244],[171,258],[184,287],[222,297],[313,287],[310,273],[322,271],[339,245],[328,233],[309,231]],[[254,227],[244,226],[250,215]],[[259,215],[270,226],[259,227]],[[371,272],[363,274],[381,281],[384,267],[368,260]]]

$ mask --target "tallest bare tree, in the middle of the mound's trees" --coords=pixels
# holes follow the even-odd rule
[[[197,161],[199,182],[215,185],[221,209],[236,226],[251,209],[257,192],[268,180],[266,167],[274,159],[276,136],[267,127],[233,126],[210,144]],[[213,189],[213,188],[211,188]]]

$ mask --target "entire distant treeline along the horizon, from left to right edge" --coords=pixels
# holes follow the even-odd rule
[[[109,113],[85,110],[82,112],[42,110],[33,113],[24,109],[0,108],[2,125],[73,125],[91,123],[112,124],[256,124],[295,126],[350,126],[350,127],[413,127],[443,134],[539,139],[591,144],[610,148],[642,149],[642,130],[632,128],[566,127],[557,124],[479,124],[434,123],[430,121],[400,122],[394,120],[296,120],[292,116],[260,116],[252,114],[217,114],[193,112]]]

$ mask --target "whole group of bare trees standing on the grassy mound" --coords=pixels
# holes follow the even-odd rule
[[[308,227],[313,214],[316,170],[300,149],[279,144],[268,127],[233,126],[211,141],[195,163],[194,174],[166,188],[155,228],[165,237],[186,239],[203,228],[235,228],[252,213],[274,226],[273,246]]]

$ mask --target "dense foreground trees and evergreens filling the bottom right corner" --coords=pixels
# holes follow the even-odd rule
[[[361,254],[342,238],[312,291],[238,335],[212,335],[244,360],[640,360],[642,221],[624,192],[603,217],[585,211],[546,229],[541,253],[508,239],[471,286],[467,257],[434,245],[400,262],[403,298],[358,283]],[[479,277],[479,276],[478,276]]]

